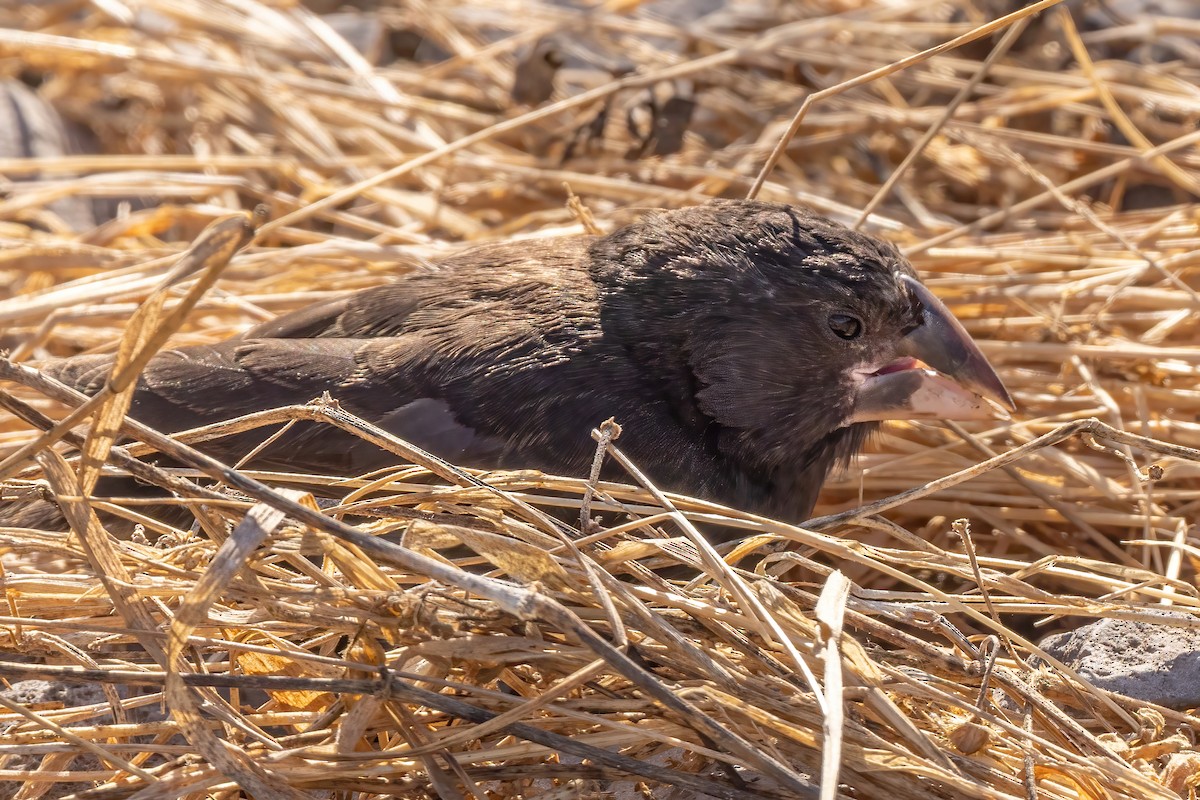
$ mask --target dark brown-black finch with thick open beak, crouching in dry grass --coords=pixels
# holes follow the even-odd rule
[[[42,369],[94,393],[109,355]],[[488,243],[428,271],[156,355],[130,415],[166,433],[323,393],[461,467],[586,476],[607,419],[659,488],[799,523],[884,420],[1013,401],[890,243],[800,205],[712,200],[606,235]],[[205,445],[230,459],[262,431]],[[314,422],[248,465],[396,457]],[[4,512],[0,511],[0,519]]]

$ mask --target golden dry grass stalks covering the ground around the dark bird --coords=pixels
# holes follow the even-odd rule
[[[236,491],[190,503],[194,533],[145,519],[109,536],[92,511],[137,518],[132,500],[65,500],[73,534],[0,529],[0,676],[107,698],[0,709],[0,757],[42,758],[0,781],[30,800],[626,798],[636,782],[791,798],[836,770],[856,798],[1188,796],[1200,720],[1031,670],[1030,637],[1200,606],[1200,72],[1123,58],[1195,23],[1080,34],[1052,10],[1015,44],[913,59],[1002,11],[828,0],[695,22],[670,5],[413,0],[380,14],[413,34],[391,46],[422,48],[383,65],[293,2],[0,10],[0,72],[40,76],[104,154],[0,161],[0,375],[22,384],[2,396],[5,493],[86,495],[143,444],[192,467],[170,470],[185,494],[203,476]],[[514,67],[551,34],[557,94],[516,107]],[[677,152],[631,140],[652,92],[696,102]],[[95,422],[56,431],[84,459],[26,421],[80,403],[38,359],[119,349],[131,377],[168,335],[220,339],[460,242],[577,231],[564,184],[605,228],[744,196],[814,92],[761,197],[851,224],[872,207],[865,227],[908,252],[1020,411],[888,426],[808,529],[634,479],[467,473],[328,405],[232,427],[320,419],[414,465],[233,471],[181,444],[229,426],[173,441],[122,423],[121,381]],[[72,231],[64,197],[134,200]],[[200,235],[258,205],[250,247],[234,253],[241,222]],[[119,429],[142,444],[110,450]],[[316,487],[338,505],[318,511]],[[632,522],[572,539],[546,515],[584,501]],[[752,535],[726,553],[748,571],[691,528],[709,522]],[[667,561],[700,577],[647,569]],[[160,702],[170,714],[146,712]]]

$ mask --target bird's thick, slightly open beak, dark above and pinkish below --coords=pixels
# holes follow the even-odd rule
[[[986,420],[1014,410],[1013,398],[962,324],[916,278],[899,278],[922,305],[922,324],[899,357],[856,372],[854,409],[846,420]]]

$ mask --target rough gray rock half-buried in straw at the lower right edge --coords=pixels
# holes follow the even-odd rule
[[[1187,626],[1104,619],[1042,640],[1042,649],[1098,688],[1172,709],[1200,706],[1200,618]]]

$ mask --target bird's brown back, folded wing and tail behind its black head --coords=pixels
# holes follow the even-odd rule
[[[605,419],[626,451],[672,488],[728,495],[740,480],[703,420],[680,420],[662,381],[605,330],[586,248],[521,242],[475,249],[438,273],[358,291],[238,339],[166,351],[144,371],[132,415],[164,431],[302,404],[343,408],[463,467],[583,475]],[[50,367],[95,391],[103,357]],[[695,429],[701,426],[700,432]],[[205,449],[235,461],[270,431]],[[361,474],[397,458],[328,425],[298,423],[256,465]]]

